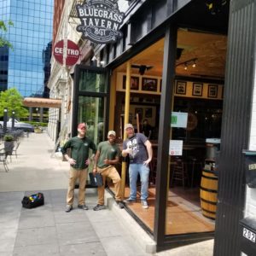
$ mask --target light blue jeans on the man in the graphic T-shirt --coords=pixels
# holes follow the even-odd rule
[[[130,198],[136,200],[137,195],[137,175],[140,174],[142,189],[141,189],[141,200],[146,201],[148,198],[148,175],[149,167],[143,164],[131,164],[129,166],[129,177],[130,177]]]

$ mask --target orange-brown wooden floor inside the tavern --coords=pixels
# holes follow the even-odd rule
[[[113,185],[110,185],[113,190]],[[139,190],[139,188],[138,188]],[[129,197],[130,189],[125,188],[125,198]],[[145,224],[149,230],[154,230],[154,186],[148,189],[148,209],[143,209],[137,192],[137,202],[126,204],[134,212],[137,218]],[[188,233],[201,233],[214,231],[215,222],[205,218],[201,214],[199,189],[183,189],[176,187],[169,190],[166,213],[166,235],[178,235]]]

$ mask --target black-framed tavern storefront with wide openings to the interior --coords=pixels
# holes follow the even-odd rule
[[[96,62],[74,67],[72,133],[86,119],[96,142],[108,129],[117,131],[121,142],[125,120],[139,131],[148,119],[154,144],[149,209],[134,204],[127,211],[154,238],[158,250],[214,236],[214,255],[238,255],[237,229],[246,194],[241,152],[249,148],[251,121],[244,113],[252,113],[248,102],[253,100],[253,1],[231,6],[219,1],[211,10],[201,1],[130,2],[120,28],[124,37],[95,45]],[[239,19],[240,12],[247,15]],[[237,23],[229,24],[229,15]],[[188,113],[189,126],[171,126],[173,112]],[[178,159],[170,155],[170,140],[183,141]],[[212,154],[213,161],[207,159]],[[206,165],[207,171],[218,165],[217,178],[209,172],[201,175]],[[182,178],[174,173],[177,169]],[[207,188],[218,190],[218,201],[202,214],[200,186],[202,180],[208,185],[207,179],[218,180],[218,188]],[[211,220],[215,212],[216,223]]]

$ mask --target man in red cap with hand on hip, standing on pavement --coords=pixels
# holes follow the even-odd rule
[[[85,205],[85,183],[87,177],[87,168],[90,164],[89,148],[93,154],[96,153],[96,145],[89,137],[86,137],[87,127],[84,123],[78,125],[78,136],[72,137],[61,148],[61,152],[70,164],[69,182],[67,189],[67,207],[66,212],[73,209],[74,188],[76,180],[79,178],[79,208],[88,210]],[[67,148],[71,149],[71,156],[67,154]]]

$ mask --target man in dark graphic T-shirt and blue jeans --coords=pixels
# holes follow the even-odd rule
[[[123,143],[122,155],[129,155],[129,177],[130,197],[125,200],[127,203],[135,202],[137,195],[137,175],[141,178],[141,203],[144,209],[148,208],[148,164],[152,160],[152,146],[142,133],[135,133],[133,125],[126,124],[125,131],[127,139]]]

